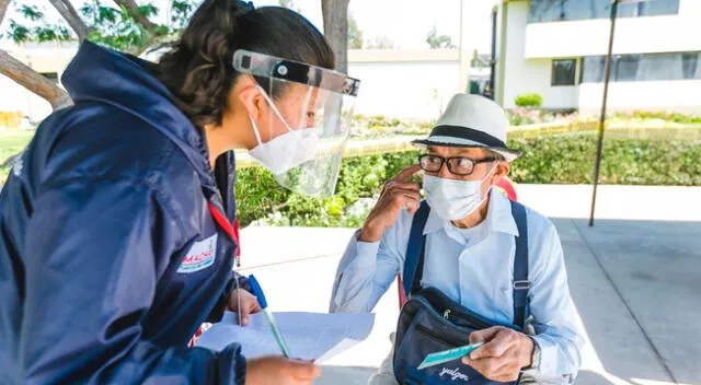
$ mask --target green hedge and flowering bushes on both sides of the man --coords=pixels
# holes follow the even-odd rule
[[[513,164],[517,183],[589,184],[596,155],[591,132],[516,139],[524,152]],[[279,187],[262,167],[239,171],[239,218],[242,225],[262,223],[298,226],[358,226],[384,180],[415,162],[417,152],[345,159],[336,195],[321,200]],[[608,138],[601,183],[624,185],[701,186],[701,141]]]

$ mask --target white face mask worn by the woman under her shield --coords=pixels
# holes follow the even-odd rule
[[[285,174],[290,168],[314,158],[320,142],[319,135],[317,133],[319,130],[315,128],[291,129],[265,91],[261,86],[258,86],[258,89],[275,115],[277,115],[280,121],[283,121],[283,125],[285,125],[287,132],[263,143],[263,141],[261,141],[258,127],[249,115],[255,139],[258,142],[258,145],[249,150],[249,154],[261,162],[273,174]]]

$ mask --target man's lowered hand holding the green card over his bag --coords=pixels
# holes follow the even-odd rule
[[[484,342],[479,349],[462,358],[492,381],[518,380],[521,369],[531,365],[533,341],[526,335],[503,326],[495,326],[470,334],[470,343]]]

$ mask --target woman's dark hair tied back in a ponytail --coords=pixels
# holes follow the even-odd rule
[[[233,52],[241,48],[329,69],[335,65],[326,39],[297,12],[253,9],[239,0],[205,0],[156,65],[156,75],[197,127],[221,124],[238,75]]]

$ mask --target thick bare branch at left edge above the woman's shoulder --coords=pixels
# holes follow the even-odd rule
[[[0,73],[45,98],[51,104],[54,109],[66,107],[71,104],[70,96],[68,96],[66,91],[38,74],[22,61],[13,58],[3,49],[0,49]]]

